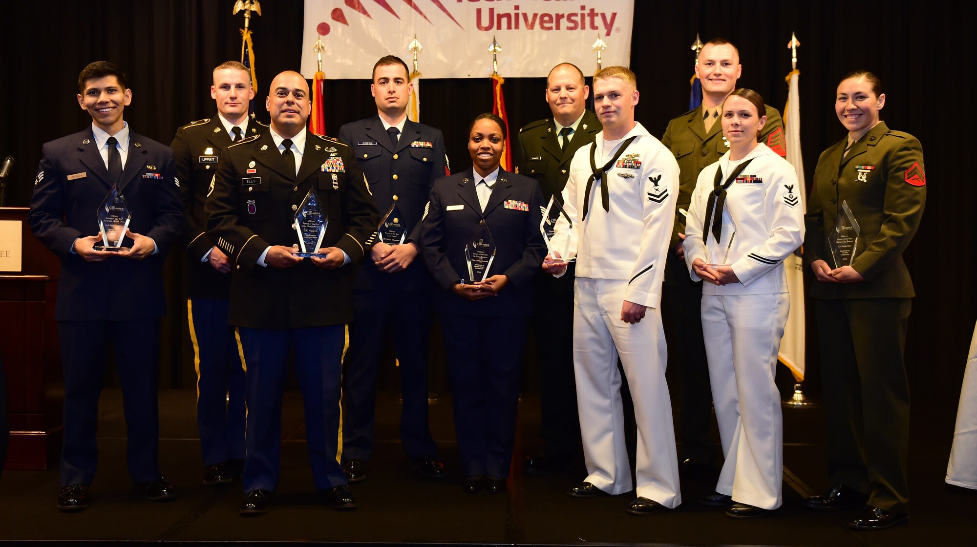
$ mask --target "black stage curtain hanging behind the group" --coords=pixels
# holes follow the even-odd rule
[[[968,35],[963,3],[846,1],[720,1],[635,2],[631,67],[638,75],[641,103],[638,119],[660,135],[667,121],[686,110],[693,56],[689,44],[724,36],[741,53],[740,84],[761,93],[779,109],[786,102],[790,32],[799,50],[802,143],[808,184],[819,154],[844,137],[833,111],[834,89],[841,75],[868,68],[879,75],[887,102],[882,119],[889,127],[919,138],[926,154],[928,203],[922,227],[906,259],[917,298],[907,344],[914,395],[956,401],[971,328],[977,311],[973,283],[957,281],[956,273],[973,271],[977,247],[973,217],[975,189],[965,170],[968,158],[954,159],[956,133],[950,126],[969,125],[965,68],[956,65]],[[8,189],[9,204],[29,200],[41,145],[89,123],[75,101],[78,71],[91,61],[119,63],[129,76],[133,104],[126,119],[136,131],[169,143],[177,127],[214,113],[209,96],[211,69],[239,59],[232,0],[118,2],[98,8],[84,3],[16,2],[5,7],[2,52],[4,85],[0,86],[0,156],[13,155],[18,164]],[[297,69],[301,56],[303,3],[268,0],[262,17],[252,19],[258,70],[259,117],[267,121],[264,98],[279,70]],[[308,21],[313,24],[317,21]],[[593,36],[581,36],[589,48]],[[486,34],[486,47],[490,42]],[[505,48],[506,44],[502,44]],[[400,54],[407,58],[406,44]],[[397,52],[395,52],[397,53]],[[422,54],[421,69],[434,56]],[[490,63],[486,54],[486,63]],[[594,65],[582,66],[590,73]],[[545,67],[543,69],[548,69]],[[329,63],[325,72],[328,76]],[[505,74],[502,74],[505,76]],[[362,80],[327,80],[325,120],[329,134],[345,122],[375,113],[369,96],[370,66]],[[544,78],[507,78],[506,105],[513,132],[549,110]],[[26,87],[23,87],[26,86]],[[937,101],[937,98],[941,98]],[[478,113],[490,110],[488,79],[423,81],[422,120],[441,128],[454,170],[469,165],[466,130]],[[958,120],[958,121],[957,121]],[[965,146],[965,145],[964,145]],[[963,152],[965,153],[965,152]],[[955,167],[956,166],[956,167]],[[948,233],[946,237],[940,233]],[[175,261],[171,261],[174,262]],[[186,307],[179,296],[179,275],[171,265],[171,314],[165,340],[180,339]],[[810,324],[810,323],[809,323]],[[809,390],[817,392],[817,353],[809,335]],[[186,344],[186,341],[184,341]],[[192,365],[178,344],[164,344],[163,386],[190,386]]]

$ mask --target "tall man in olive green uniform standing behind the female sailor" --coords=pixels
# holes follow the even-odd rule
[[[682,386],[680,416],[683,462],[687,471],[706,471],[713,466],[716,442],[711,434],[711,391],[709,371],[702,341],[700,302],[701,281],[689,278],[682,253],[685,238],[685,216],[692,191],[702,168],[719,161],[729,150],[722,135],[719,113],[726,97],[736,89],[743,72],[740,52],[723,38],[706,42],[699,55],[696,75],[702,85],[702,104],[694,110],[672,118],[661,138],[661,144],[675,154],[680,169],[678,210],[675,229],[665,264],[665,289],[661,307],[665,336],[679,369]],[[776,108],[767,105],[767,123],[760,131],[760,141],[786,156],[784,125]]]

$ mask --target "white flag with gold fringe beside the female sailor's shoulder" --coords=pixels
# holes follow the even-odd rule
[[[797,172],[797,195],[801,209],[807,210],[807,190],[804,185],[804,158],[800,152],[800,99],[797,91],[796,68],[787,74],[789,85],[787,104],[784,107],[784,139],[786,141],[787,161]],[[798,382],[804,380],[804,267],[801,264],[800,249],[784,261],[787,276],[787,291],[790,295],[790,312],[781,338],[781,351],[777,356]]]

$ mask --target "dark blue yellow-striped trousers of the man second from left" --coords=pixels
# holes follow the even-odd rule
[[[244,368],[228,300],[187,301],[196,370],[196,427],[204,465],[244,458]]]

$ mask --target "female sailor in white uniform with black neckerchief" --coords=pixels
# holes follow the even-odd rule
[[[737,89],[722,107],[730,150],[699,175],[685,260],[702,285],[702,332],[725,462],[707,505],[736,519],[783,502],[783,417],[774,384],[789,309],[784,259],[804,240],[794,168],[762,143],[763,99]]]

